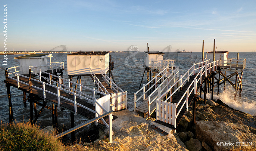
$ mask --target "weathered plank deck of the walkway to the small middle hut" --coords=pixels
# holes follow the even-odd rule
[[[159,71],[161,72],[161,71]],[[170,72],[167,72],[167,76],[170,76]],[[172,79],[174,76],[171,75],[169,77],[169,79]],[[170,85],[173,85],[173,83],[176,82],[176,79],[178,79],[178,77],[175,77],[175,81],[172,80],[169,85],[168,88],[170,88]],[[165,82],[162,82],[163,84],[160,86],[161,90],[164,88],[164,86],[167,85],[167,80]],[[167,91],[167,87],[164,88],[164,90],[161,92],[161,95],[164,94],[164,92]],[[158,96],[158,90],[155,91],[153,94],[151,94],[150,96],[150,101],[152,101],[156,96]],[[166,96],[166,94],[164,95],[164,97]],[[154,100],[154,102],[151,103],[150,105],[150,112],[154,111],[156,109],[156,100]],[[145,100],[143,100],[143,102],[135,109],[136,111],[142,112],[147,114],[148,113],[148,97],[146,96]]]

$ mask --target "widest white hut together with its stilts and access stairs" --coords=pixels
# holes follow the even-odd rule
[[[111,62],[109,51],[80,51],[67,54],[67,74],[70,81],[72,81],[74,76],[77,76],[76,83],[79,81],[81,84],[81,76],[90,76],[98,90],[104,91],[106,88],[105,91],[108,91],[110,94],[114,93],[110,86],[112,84],[111,76],[113,78],[111,70],[113,69],[114,62]],[[109,73],[109,79],[104,76],[107,73]],[[72,83],[70,87],[73,88]]]

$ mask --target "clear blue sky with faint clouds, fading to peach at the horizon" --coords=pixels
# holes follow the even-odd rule
[[[214,39],[217,51],[256,50],[254,0],[2,1],[2,12],[3,5],[8,51],[146,51],[148,43],[150,51],[199,52],[203,40],[212,51]]]

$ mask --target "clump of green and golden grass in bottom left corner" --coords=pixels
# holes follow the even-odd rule
[[[65,147],[55,134],[43,132],[39,126],[16,122],[0,127],[0,150],[49,150],[64,151]]]

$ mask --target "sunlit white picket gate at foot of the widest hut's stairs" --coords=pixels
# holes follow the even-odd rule
[[[111,94],[112,110],[127,109],[127,91]]]

